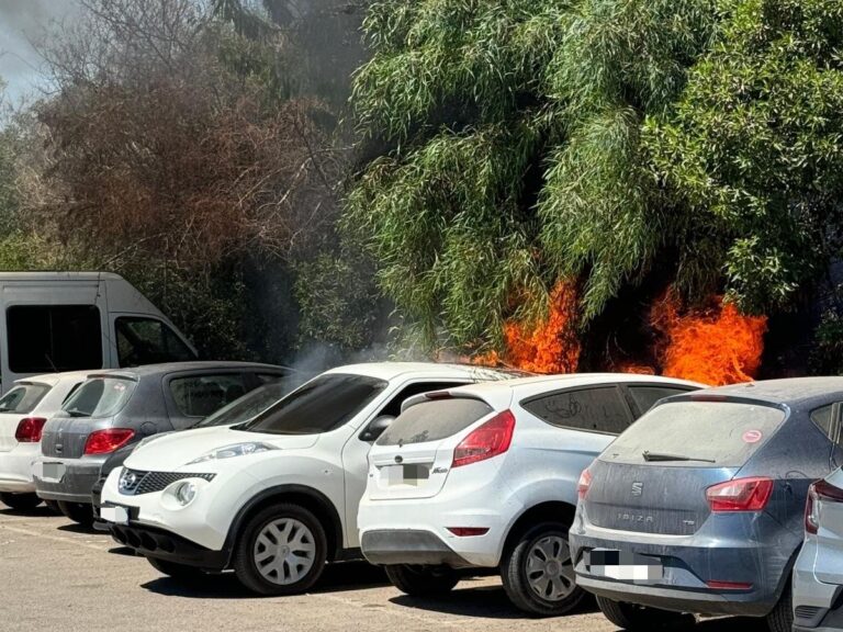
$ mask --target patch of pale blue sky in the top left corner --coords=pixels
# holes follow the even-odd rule
[[[33,43],[46,37],[50,24],[72,20],[76,0],[0,0],[0,78],[5,100],[18,104],[37,94],[41,57]]]

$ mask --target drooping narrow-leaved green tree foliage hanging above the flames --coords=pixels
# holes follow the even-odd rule
[[[582,279],[583,321],[675,222],[642,123],[677,99],[713,0],[389,0],[364,22],[360,128],[386,147],[347,223],[428,343],[499,342]]]

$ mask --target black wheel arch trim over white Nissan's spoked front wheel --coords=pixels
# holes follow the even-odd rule
[[[252,496],[241,508],[237,511],[232,526],[228,529],[228,535],[225,539],[225,550],[228,553],[228,561],[226,566],[232,563],[232,555],[234,552],[237,538],[243,530],[243,527],[259,511],[266,507],[276,503],[292,503],[299,505],[308,511],[311,511],[322,522],[325,529],[325,535],[327,537],[327,560],[331,562],[336,560],[342,546],[342,521],[339,518],[339,511],[322,492],[307,487],[306,485],[279,485],[263,489],[259,494]]]

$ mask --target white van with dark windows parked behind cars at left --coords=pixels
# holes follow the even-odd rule
[[[0,272],[0,393],[43,373],[195,360],[140,292],[106,272]]]

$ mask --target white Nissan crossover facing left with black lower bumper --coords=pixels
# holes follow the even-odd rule
[[[402,403],[508,376],[432,363],[334,369],[244,425],[138,448],[105,481],[101,517],[165,574],[233,568],[259,594],[306,590],[326,561],[360,558],[367,455]]]

